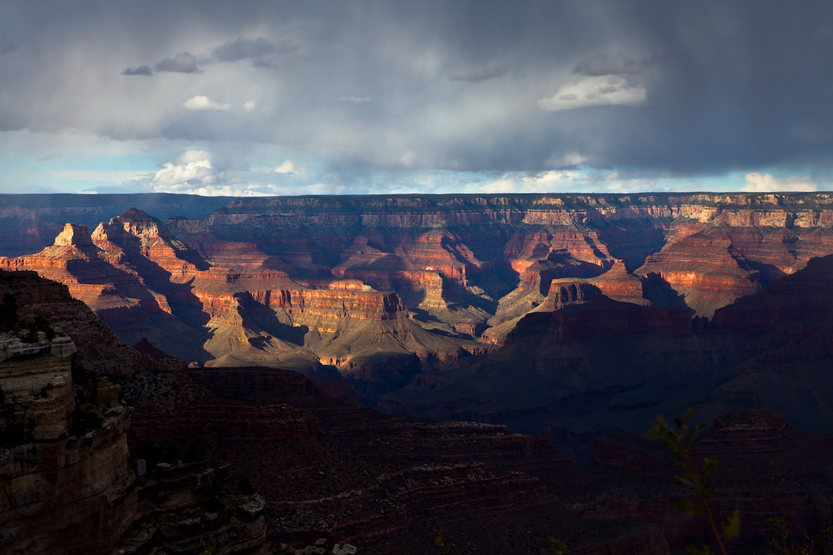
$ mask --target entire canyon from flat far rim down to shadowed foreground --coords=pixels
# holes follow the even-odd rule
[[[22,320],[60,332],[7,338],[9,461],[29,480],[37,449],[73,453],[55,472],[93,484],[62,505],[88,553],[436,553],[439,528],[463,553],[669,553],[703,529],[645,436],[691,407],[716,513],[760,547],[772,516],[819,528],[833,492],[829,203],[286,197],[42,225],[0,258]],[[134,500],[159,488],[191,493]],[[63,524],[27,510],[0,511],[3,541],[42,553],[27,527]]]

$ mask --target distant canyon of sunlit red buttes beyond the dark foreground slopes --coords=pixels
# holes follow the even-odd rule
[[[12,210],[14,197],[6,201]],[[786,355],[771,352],[820,349],[808,341],[824,344],[821,329],[801,339],[784,325],[750,334],[726,324],[833,253],[831,201],[237,199],[165,222],[137,209],[94,229],[51,221],[52,245],[7,251],[0,268],[66,284],[124,342],[146,341],[192,368],[293,369],[347,402],[505,424],[586,459],[611,423],[636,433],[656,412],[687,406],[709,420],[755,402],[806,431],[833,432],[802,408],[801,384],[781,378]],[[38,217],[56,214],[67,213]],[[763,335],[771,348],[759,352]],[[767,394],[760,376],[771,374],[795,393]]]

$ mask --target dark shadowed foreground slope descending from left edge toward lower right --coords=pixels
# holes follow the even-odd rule
[[[655,525],[549,493],[579,471],[546,440],[391,417],[292,370],[187,369],[145,342],[154,359],[34,272],[0,271],[0,293],[22,326],[0,335],[4,553],[419,555],[439,527],[466,551],[556,533],[587,555],[667,553]]]

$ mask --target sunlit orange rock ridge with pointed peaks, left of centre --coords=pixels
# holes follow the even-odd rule
[[[131,344],[146,339],[199,364],[263,364],[318,377],[337,376],[337,367],[357,380],[369,402],[421,366],[453,364],[482,350],[427,333],[397,294],[357,280],[305,286],[279,270],[210,267],[161,221],[137,210],[98,225],[92,235],[82,225],[67,225],[52,247],[0,259],[0,266],[62,280]],[[396,279],[425,275],[441,288],[436,272],[399,272]],[[457,327],[474,334],[477,325],[464,320]],[[388,360],[399,359],[388,378],[379,377],[387,372],[377,360],[380,350]]]

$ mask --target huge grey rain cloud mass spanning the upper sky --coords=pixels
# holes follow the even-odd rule
[[[6,2],[27,42],[0,64],[2,129],[257,143],[339,171],[569,158],[646,174],[833,172],[829,0]],[[135,60],[192,77],[120,78]],[[609,98],[541,103],[594,94]],[[183,108],[193,97],[231,107]]]

